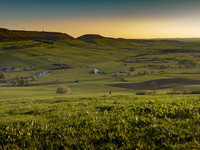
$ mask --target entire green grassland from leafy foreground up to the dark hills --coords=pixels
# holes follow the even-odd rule
[[[199,69],[199,42],[0,42],[0,149],[200,149]]]

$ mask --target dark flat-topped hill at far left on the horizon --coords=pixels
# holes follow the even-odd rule
[[[20,31],[8,30],[0,28],[0,41],[16,41],[16,40],[73,40],[74,38],[65,33],[59,32],[39,32],[39,31]]]

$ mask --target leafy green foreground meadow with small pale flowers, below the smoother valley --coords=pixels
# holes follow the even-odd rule
[[[198,95],[0,99],[0,149],[200,149]]]

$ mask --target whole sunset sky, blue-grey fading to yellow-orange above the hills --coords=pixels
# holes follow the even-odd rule
[[[200,37],[200,0],[0,0],[0,27],[78,37]]]

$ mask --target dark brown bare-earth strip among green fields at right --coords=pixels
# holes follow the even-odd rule
[[[110,84],[109,86],[127,88],[127,89],[136,89],[136,90],[152,90],[152,82],[156,82],[157,89],[171,88],[175,85],[198,85],[198,84],[200,84],[200,80],[174,78],[174,79],[151,80],[151,81],[142,82],[142,83]]]

